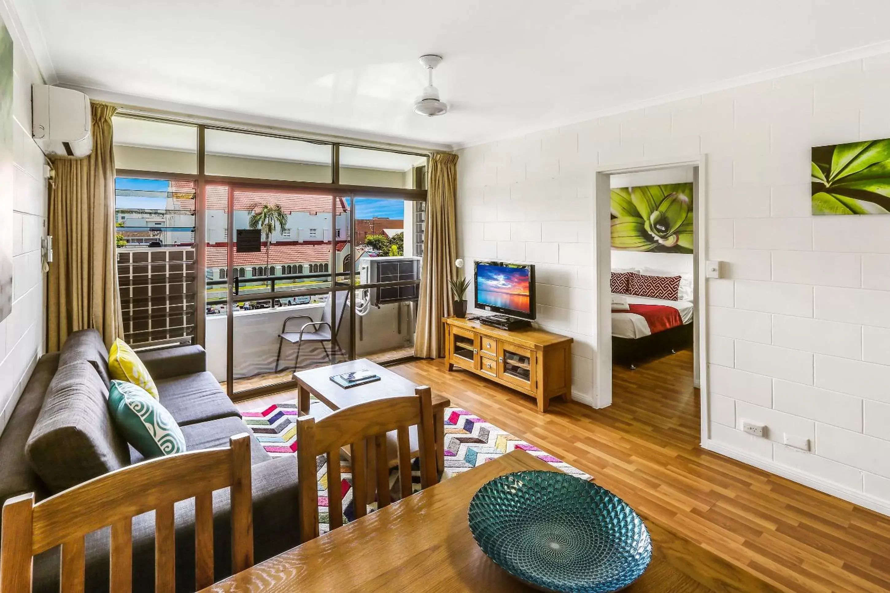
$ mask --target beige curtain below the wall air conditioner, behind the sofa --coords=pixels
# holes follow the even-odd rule
[[[114,152],[111,116],[117,108],[93,103],[93,153],[53,161],[50,190],[50,264],[47,349],[61,349],[69,333],[95,328],[106,346],[123,336],[115,266]]]

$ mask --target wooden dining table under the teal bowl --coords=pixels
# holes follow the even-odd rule
[[[205,591],[526,591],[473,540],[473,494],[513,471],[554,471],[514,451],[348,523]],[[652,540],[646,572],[632,593],[751,593],[780,589],[643,517]],[[262,534],[258,534],[262,536]]]

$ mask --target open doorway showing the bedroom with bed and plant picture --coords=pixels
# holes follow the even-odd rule
[[[599,404],[642,405],[676,423],[671,429],[696,434],[703,425],[698,175],[697,163],[597,174],[597,218],[609,221],[597,225],[597,260],[608,266],[599,294],[609,307],[599,309],[599,363],[611,388]]]

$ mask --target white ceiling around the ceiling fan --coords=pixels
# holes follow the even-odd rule
[[[890,50],[886,0],[13,1],[51,82],[425,146]],[[411,110],[427,52],[446,116]]]

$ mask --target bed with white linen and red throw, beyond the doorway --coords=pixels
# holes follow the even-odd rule
[[[629,311],[612,311],[612,360],[636,368],[645,359],[692,345],[692,301],[622,294]]]

